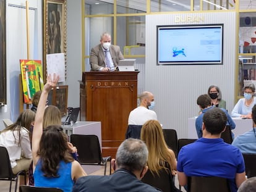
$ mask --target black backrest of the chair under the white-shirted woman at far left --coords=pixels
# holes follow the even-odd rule
[[[0,146],[0,178],[12,178],[12,167],[8,151],[5,147]]]

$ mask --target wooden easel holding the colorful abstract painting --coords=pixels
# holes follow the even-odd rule
[[[27,23],[27,58],[30,59],[30,41],[29,41],[29,28],[28,28],[28,1],[26,1],[26,23]],[[24,109],[24,102],[23,102],[23,90],[22,90],[22,77],[21,74],[19,75],[20,81],[20,113]],[[26,109],[29,109],[30,103],[26,103]]]

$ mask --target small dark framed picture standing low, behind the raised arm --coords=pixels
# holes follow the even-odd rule
[[[56,88],[51,90],[48,95],[48,105],[58,107],[59,111],[61,111],[62,116],[67,114],[68,88],[68,85],[56,86]]]

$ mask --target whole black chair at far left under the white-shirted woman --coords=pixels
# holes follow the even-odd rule
[[[15,182],[15,192],[17,191],[17,184],[19,180],[19,175],[23,175],[25,177],[25,182],[26,182],[26,177],[27,173],[25,170],[21,170],[17,174],[14,174],[12,172],[12,167],[11,167],[11,162],[9,158],[8,151],[5,147],[0,146],[0,180],[1,181],[10,181],[10,188],[9,192],[12,190],[12,182]],[[26,183],[24,183],[26,184]]]

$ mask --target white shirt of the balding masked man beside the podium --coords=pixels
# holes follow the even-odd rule
[[[157,120],[156,112],[139,106],[130,112],[128,125],[143,125],[151,119]]]

